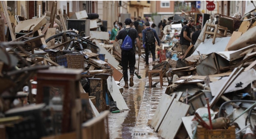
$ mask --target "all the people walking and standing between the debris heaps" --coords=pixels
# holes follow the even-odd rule
[[[166,25],[166,20],[161,24],[161,27],[164,28]],[[158,25],[158,27],[159,27]],[[190,44],[195,44],[198,39],[198,36],[201,32],[201,25],[196,26],[196,31],[192,32],[192,27],[195,25],[195,21],[190,19],[189,22],[182,27],[180,33],[180,45],[182,47],[182,54],[185,54],[185,51],[189,48]],[[136,46],[138,48],[138,56],[141,56],[141,43],[139,39],[138,30],[142,30],[142,45],[145,49],[145,68],[149,68],[149,52],[152,54],[152,60],[155,61],[155,51],[156,51],[156,42],[160,47],[160,39],[154,28],[156,25],[152,22],[151,18],[148,18],[148,21],[145,23],[141,17],[135,19],[134,22],[130,18],[127,18],[124,22],[124,27],[121,22],[114,22],[114,28],[111,32],[110,40],[119,42],[121,46],[121,64],[123,68],[123,79],[125,81],[124,88],[133,87],[133,77],[135,72],[135,51]],[[193,33],[191,35],[191,33]],[[192,36],[192,37],[191,37]],[[131,44],[131,45],[130,45]],[[128,66],[129,66],[129,84],[128,84]]]

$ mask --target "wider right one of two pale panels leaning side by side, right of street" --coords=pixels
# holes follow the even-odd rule
[[[175,139],[182,124],[182,117],[187,114],[189,107],[190,105],[185,103],[173,101],[172,106],[165,116],[166,119],[159,128],[158,135],[165,139]]]

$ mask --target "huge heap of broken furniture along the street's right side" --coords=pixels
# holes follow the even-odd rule
[[[165,139],[256,138],[256,22],[220,15],[210,23],[165,71],[169,86],[151,121]]]

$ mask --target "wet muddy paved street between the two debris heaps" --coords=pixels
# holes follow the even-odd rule
[[[149,124],[154,116],[155,110],[161,99],[162,94],[165,92],[168,82],[164,78],[164,86],[160,88],[160,83],[155,88],[149,88],[147,71],[152,69],[144,68],[145,62],[140,58],[139,74],[142,79],[138,79],[134,75],[134,86],[123,90],[123,98],[126,101],[129,111],[121,113],[109,114],[109,136],[111,139],[159,139],[157,133],[150,128]],[[136,64],[138,66],[138,56],[136,55]],[[135,70],[137,71],[137,69]],[[129,76],[129,72],[128,72]],[[152,77],[158,79],[157,77]],[[120,82],[121,87],[124,85],[123,79]],[[154,84],[154,82],[153,82]],[[145,87],[146,86],[146,87]]]

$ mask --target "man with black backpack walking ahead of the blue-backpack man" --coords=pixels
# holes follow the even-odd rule
[[[156,59],[156,40],[157,45],[160,46],[160,39],[158,38],[156,31],[150,27],[149,22],[145,23],[146,28],[142,31],[143,47],[145,48],[145,68],[149,67],[148,57],[149,51],[151,51],[153,61]],[[156,39],[155,39],[156,38]]]

